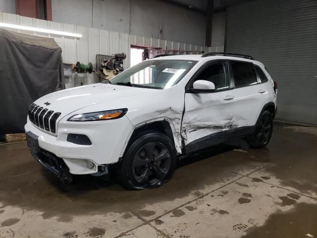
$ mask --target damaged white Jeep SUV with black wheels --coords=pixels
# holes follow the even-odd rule
[[[116,168],[124,187],[144,189],[168,181],[181,155],[238,137],[265,146],[275,113],[276,83],[261,62],[179,55],[46,95],[25,131],[35,159],[62,180]]]

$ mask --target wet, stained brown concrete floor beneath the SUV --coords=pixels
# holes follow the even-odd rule
[[[267,148],[217,146],[143,191],[92,177],[63,191],[26,143],[0,162],[1,238],[317,238],[317,128],[275,124]]]

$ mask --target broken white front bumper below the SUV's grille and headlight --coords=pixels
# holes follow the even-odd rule
[[[31,131],[37,136],[40,151],[32,152],[35,159],[57,176],[61,176],[60,168],[57,168],[61,164],[62,167],[68,167],[71,174],[85,175],[98,173],[101,167],[118,162],[133,131],[126,117],[87,122],[61,119],[57,126],[57,136],[36,127],[29,119],[24,128],[26,132]],[[70,133],[86,135],[92,144],[71,143],[67,141]]]

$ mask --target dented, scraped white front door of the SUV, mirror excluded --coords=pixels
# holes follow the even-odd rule
[[[211,93],[185,93],[185,112],[182,119],[182,137],[186,152],[207,148],[216,144],[213,135],[235,128],[232,123],[235,98],[230,87],[227,61],[207,64],[189,82],[191,88],[196,80],[214,83]],[[213,137],[213,138],[212,138]]]

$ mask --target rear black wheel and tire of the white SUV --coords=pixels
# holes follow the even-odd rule
[[[247,143],[253,148],[262,148],[271,139],[273,131],[273,117],[268,111],[264,111],[259,118],[256,129],[247,139]]]

